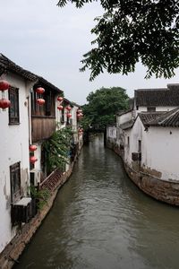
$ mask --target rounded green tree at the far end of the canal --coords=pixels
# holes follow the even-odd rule
[[[115,124],[116,111],[128,108],[129,98],[123,88],[112,87],[90,92],[87,100],[89,103],[82,107],[81,125],[87,129],[88,122],[94,129],[104,130],[107,125]]]

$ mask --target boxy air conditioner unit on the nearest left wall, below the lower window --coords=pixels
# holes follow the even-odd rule
[[[12,204],[12,223],[29,222],[37,213],[36,200],[30,197],[22,197],[20,201]]]

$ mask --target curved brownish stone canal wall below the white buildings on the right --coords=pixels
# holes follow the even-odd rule
[[[107,147],[117,153],[124,161],[124,151],[120,151],[116,144],[108,141]],[[158,178],[159,172],[152,169],[142,169],[138,163],[135,166],[133,165],[135,168],[133,169],[127,163],[124,163],[126,173],[137,187],[158,201],[179,206],[178,181],[171,179],[163,180],[162,178]]]

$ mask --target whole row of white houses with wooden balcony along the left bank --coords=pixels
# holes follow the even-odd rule
[[[79,107],[65,100],[63,110],[57,109],[57,97],[64,95],[63,91],[0,54],[0,82],[2,81],[10,84],[9,90],[4,91],[4,98],[11,101],[10,108],[0,108],[0,255],[4,256],[4,248],[9,243],[11,245],[13,238],[18,232],[20,234],[20,228],[36,213],[36,204],[30,197],[30,186],[37,187],[47,177],[42,143],[56,129],[67,125],[72,126],[75,132],[74,143],[80,141],[82,144],[82,135],[79,137],[78,134]],[[37,88],[45,91],[39,93]],[[0,106],[1,99],[2,97]],[[45,105],[40,106],[37,100],[45,100]],[[70,104],[71,115],[67,117],[65,107]],[[31,145],[37,146],[35,152],[30,152]],[[36,158],[34,163],[30,161],[32,156]],[[55,187],[59,184],[60,177],[61,174],[57,175],[58,182],[53,182]],[[51,178],[48,179],[51,184]],[[19,240],[21,241],[21,236]]]

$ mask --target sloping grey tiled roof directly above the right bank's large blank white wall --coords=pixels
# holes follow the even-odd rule
[[[147,126],[179,127],[179,108],[170,110],[149,121]]]

